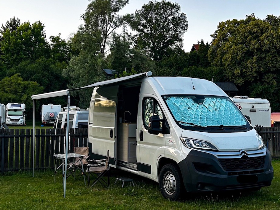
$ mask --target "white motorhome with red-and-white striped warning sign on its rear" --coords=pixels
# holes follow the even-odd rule
[[[41,123],[42,124],[54,124],[58,113],[61,111],[61,105],[54,104],[43,104],[41,114]]]

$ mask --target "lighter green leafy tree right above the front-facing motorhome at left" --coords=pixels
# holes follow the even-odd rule
[[[43,93],[43,87],[37,82],[25,81],[20,74],[5,77],[1,81],[0,98],[1,103],[25,103],[26,110],[32,113],[32,95]]]

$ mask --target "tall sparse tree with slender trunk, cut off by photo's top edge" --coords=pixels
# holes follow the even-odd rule
[[[127,22],[129,15],[118,15],[126,4],[128,4],[128,0],[91,0],[86,12],[81,16],[84,24],[80,28],[80,32],[95,37],[103,59],[108,50],[108,42],[112,33]]]

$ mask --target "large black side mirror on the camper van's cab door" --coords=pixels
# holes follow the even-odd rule
[[[160,128],[162,124],[162,128]],[[153,115],[149,119],[148,132],[151,134],[170,133],[170,127],[165,119],[159,119],[158,115]]]

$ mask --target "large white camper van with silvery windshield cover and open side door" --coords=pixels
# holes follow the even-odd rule
[[[260,189],[273,178],[261,136],[216,84],[151,72],[98,82],[89,108],[93,157],[159,183],[165,198]],[[83,87],[83,88],[86,88]]]

